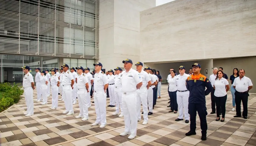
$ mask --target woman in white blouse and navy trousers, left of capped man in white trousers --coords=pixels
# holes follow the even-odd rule
[[[168,84],[169,84],[169,93],[170,93],[170,100],[171,100],[171,110],[169,111],[169,113],[174,112],[177,113],[178,111],[178,104],[177,104],[177,86],[175,84],[175,80],[176,80],[176,72],[175,71],[171,71],[170,72],[171,75],[169,76],[168,80]]]

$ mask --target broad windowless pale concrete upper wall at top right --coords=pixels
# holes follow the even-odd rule
[[[256,0],[176,0],[140,12],[140,60],[256,56],[255,26]]]

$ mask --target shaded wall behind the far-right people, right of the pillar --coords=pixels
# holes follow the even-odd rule
[[[237,58],[228,58],[228,59],[214,59],[213,66],[214,67],[222,67],[223,71],[228,75],[233,74],[233,69],[244,69],[245,76],[251,79],[252,84],[254,85],[253,88],[250,90],[251,93],[256,93],[256,78],[255,78],[255,62],[256,57],[237,57]],[[231,85],[229,80],[229,85]]]

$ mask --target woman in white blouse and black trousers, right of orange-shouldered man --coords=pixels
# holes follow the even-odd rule
[[[217,119],[216,121],[220,120],[220,107],[222,109],[222,119],[221,122],[225,120],[225,113],[226,113],[226,100],[227,100],[227,91],[229,91],[229,82],[226,78],[223,78],[223,71],[217,72],[217,77],[213,84],[213,88],[215,89],[214,96],[215,96],[215,103],[216,103],[216,113]]]

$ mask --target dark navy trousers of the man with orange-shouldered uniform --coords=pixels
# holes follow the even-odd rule
[[[206,134],[207,132],[207,122],[205,103],[188,103],[188,113],[190,114],[190,131],[196,131],[196,116],[200,118],[201,133]]]

